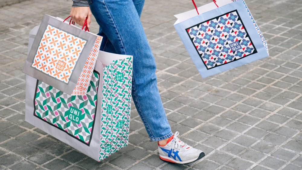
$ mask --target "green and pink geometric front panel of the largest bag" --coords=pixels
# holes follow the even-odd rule
[[[89,146],[97,104],[99,73],[93,72],[86,95],[71,96],[37,81],[34,116]]]

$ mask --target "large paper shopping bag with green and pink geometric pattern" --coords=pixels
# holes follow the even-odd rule
[[[27,75],[25,120],[100,161],[128,144],[131,85],[132,56],[99,51],[86,95],[68,95]]]

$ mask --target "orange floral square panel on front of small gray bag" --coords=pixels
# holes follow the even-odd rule
[[[68,83],[86,43],[86,40],[48,25],[31,66]],[[62,62],[66,64],[60,65]]]

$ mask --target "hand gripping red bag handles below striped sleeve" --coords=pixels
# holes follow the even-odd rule
[[[90,27],[91,23],[91,11],[89,7],[71,7],[70,16],[72,21],[83,26],[87,17],[87,27]]]

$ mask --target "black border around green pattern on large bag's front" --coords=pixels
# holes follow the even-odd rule
[[[101,79],[100,73],[97,72],[97,71],[95,71],[95,70],[93,70],[93,72],[96,72],[96,73],[98,74],[98,76],[99,76],[99,79],[98,79],[98,86],[99,86],[99,84],[100,84],[100,79]],[[48,121],[42,119],[41,117],[39,117],[39,116],[37,116],[37,115],[35,114],[35,113],[36,113],[36,104],[35,104],[35,101],[36,101],[38,83],[39,83],[39,80],[37,80],[36,91],[35,91],[35,95],[34,95],[34,116],[37,117],[37,118],[40,119],[40,120],[43,120],[44,122],[48,123],[49,125],[51,125],[51,126],[53,126],[53,127],[56,127],[56,128],[59,129],[59,130],[62,130],[63,132],[67,133],[69,136],[75,138],[76,140],[80,141],[81,143],[84,143],[85,145],[90,146],[90,142],[91,142],[92,134],[93,134],[93,129],[94,129],[94,124],[95,124],[95,118],[96,118],[97,107],[98,107],[98,98],[97,98],[97,100],[96,100],[96,101],[97,101],[97,102],[96,102],[97,104],[95,105],[95,116],[94,116],[93,123],[92,123],[92,129],[91,129],[90,139],[89,139],[89,142],[86,143],[86,142],[80,140],[79,138],[77,138],[76,136],[73,136],[72,134],[66,132],[66,131],[63,130],[63,129],[60,129],[59,127],[55,126],[55,125],[52,124],[52,123],[49,123]],[[98,87],[98,89],[99,89],[99,87]],[[98,90],[96,91],[96,95],[98,95]]]

